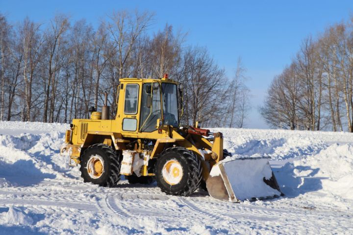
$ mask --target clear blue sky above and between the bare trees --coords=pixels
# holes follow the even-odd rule
[[[252,112],[247,128],[268,128],[258,113],[276,74],[295,56],[303,39],[328,25],[348,21],[350,0],[0,0],[0,12],[12,23],[31,20],[48,23],[55,13],[85,18],[97,25],[112,10],[139,9],[155,13],[151,31],[168,23],[188,32],[186,44],[207,47],[231,77],[239,56],[250,78]]]

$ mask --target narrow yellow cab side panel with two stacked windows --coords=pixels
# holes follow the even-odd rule
[[[122,131],[134,132],[138,130],[138,108],[139,108],[140,85],[129,83],[125,86],[124,112],[122,115]]]

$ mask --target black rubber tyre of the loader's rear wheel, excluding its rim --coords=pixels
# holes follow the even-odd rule
[[[92,156],[98,156],[103,160],[103,172],[99,178],[92,178],[88,173],[87,163]],[[80,171],[83,182],[91,182],[103,187],[113,187],[120,180],[121,151],[115,151],[105,144],[89,146],[81,156]]]

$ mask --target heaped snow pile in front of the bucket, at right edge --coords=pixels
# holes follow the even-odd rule
[[[287,163],[276,176],[290,197],[320,193],[330,200],[353,200],[353,144],[332,144],[318,154]]]

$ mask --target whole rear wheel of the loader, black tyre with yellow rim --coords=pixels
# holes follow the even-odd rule
[[[98,143],[89,146],[80,161],[83,182],[103,187],[115,186],[120,180],[120,158],[121,151],[116,152],[108,145]]]

